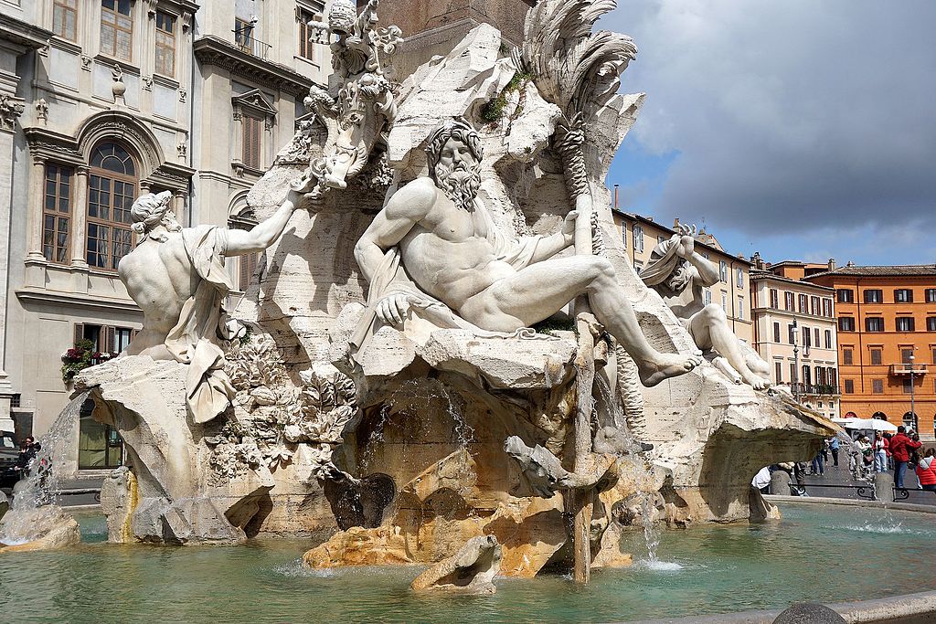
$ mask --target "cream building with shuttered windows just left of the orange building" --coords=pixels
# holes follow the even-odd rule
[[[767,265],[759,254],[753,263],[753,347],[770,366],[770,381],[789,387],[816,412],[838,418],[835,291],[804,282],[804,263]]]

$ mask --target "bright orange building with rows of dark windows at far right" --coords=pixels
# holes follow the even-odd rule
[[[841,414],[936,439],[936,266],[833,265],[806,280],[835,290]]]

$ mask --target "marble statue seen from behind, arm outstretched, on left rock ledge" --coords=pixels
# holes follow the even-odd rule
[[[221,414],[235,390],[224,370],[225,341],[242,329],[224,309],[233,288],[224,258],[262,252],[280,237],[298,205],[287,197],[253,229],[216,225],[183,228],[168,191],[139,196],[130,210],[139,243],[117,268],[127,293],[143,311],[143,328],[124,356],[150,356],[188,365],[186,404],[196,423]]]

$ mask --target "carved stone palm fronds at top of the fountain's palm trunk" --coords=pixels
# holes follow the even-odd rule
[[[530,73],[539,93],[571,120],[591,117],[617,93],[621,74],[636,57],[626,35],[592,33],[615,0],[541,0],[527,13],[524,41],[514,60]]]

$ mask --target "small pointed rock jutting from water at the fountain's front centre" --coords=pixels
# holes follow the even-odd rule
[[[501,546],[492,535],[473,537],[461,550],[419,574],[410,585],[416,591],[442,590],[466,594],[492,594],[494,577],[501,570]]]

